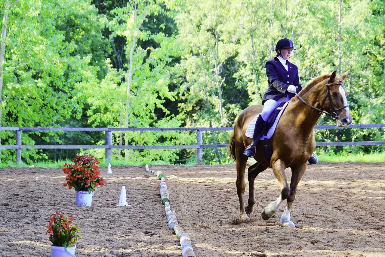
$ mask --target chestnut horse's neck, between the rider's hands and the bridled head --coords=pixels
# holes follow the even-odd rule
[[[301,96],[311,106],[320,108],[319,96],[324,95],[321,87],[312,88],[305,95]],[[295,101],[291,101],[288,105],[288,115],[293,117],[293,128],[301,131],[303,135],[310,135],[313,133],[314,127],[321,117],[321,113],[313,108],[305,105],[298,97]]]

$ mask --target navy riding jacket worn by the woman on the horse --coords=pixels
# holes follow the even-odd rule
[[[290,98],[295,96],[294,93],[287,91],[288,86],[294,85],[298,87],[298,91],[302,90],[300,79],[298,77],[298,67],[288,61],[288,70],[282,65],[278,57],[266,62],[266,75],[269,87],[262,97],[262,104],[269,99],[283,101],[286,96]]]

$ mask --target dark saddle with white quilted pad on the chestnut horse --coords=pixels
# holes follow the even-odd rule
[[[266,155],[266,159],[270,162],[271,155],[273,154],[271,150],[271,146],[269,144],[269,139],[273,136],[275,132],[275,128],[277,127],[278,121],[281,118],[281,115],[283,111],[285,111],[285,108],[287,107],[289,102],[281,102],[274,110],[270,113],[269,117],[267,118],[265,125],[262,130],[262,136],[259,140],[264,140],[263,150]],[[246,136],[253,138],[254,134],[254,127],[255,122],[258,118],[259,114],[253,118],[253,120],[250,122],[249,126],[246,130]]]

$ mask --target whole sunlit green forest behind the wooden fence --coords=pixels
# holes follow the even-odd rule
[[[231,127],[260,104],[265,63],[288,37],[300,82],[337,70],[355,124],[385,123],[384,0],[1,0],[0,126]],[[318,125],[335,124],[321,116]],[[1,144],[15,144],[1,131]],[[204,132],[227,144],[229,132]],[[23,132],[22,144],[104,144],[104,132]],[[316,130],[317,142],[385,140],[384,129]],[[196,144],[196,132],[113,132],[116,145]],[[383,146],[317,147],[323,152]],[[84,149],[23,149],[22,161]],[[88,152],[104,158],[103,149]],[[113,150],[114,159],[196,163],[196,150]],[[2,162],[15,150],[1,150]],[[228,163],[204,149],[206,164]]]

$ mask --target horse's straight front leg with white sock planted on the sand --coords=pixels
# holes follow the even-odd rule
[[[293,205],[298,183],[300,182],[303,174],[305,173],[306,167],[307,162],[305,162],[301,167],[291,169],[292,174],[290,181],[290,196],[286,199],[286,208],[281,216],[281,224],[283,227],[295,227],[293,221],[290,220],[291,205]]]

